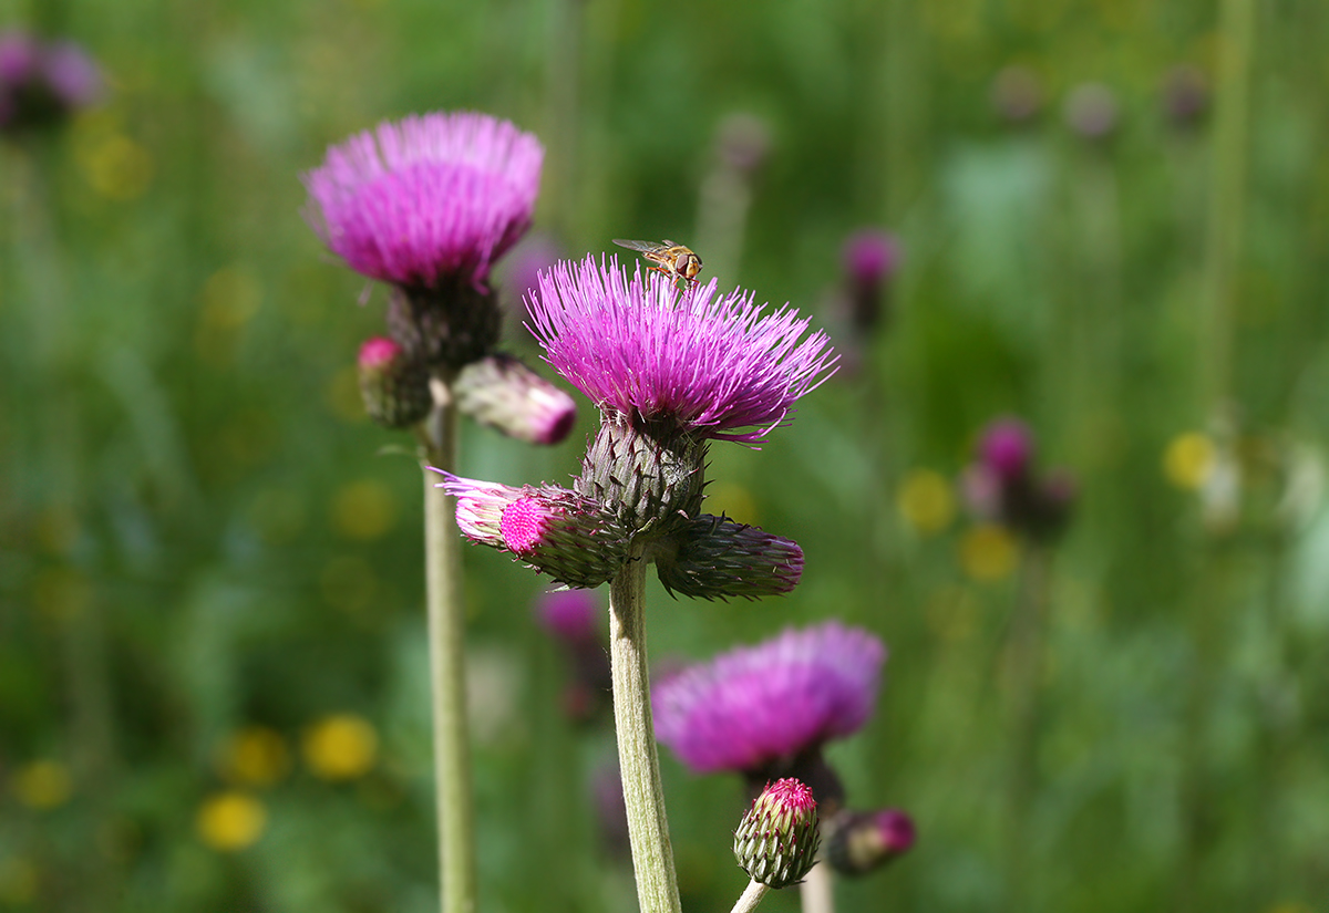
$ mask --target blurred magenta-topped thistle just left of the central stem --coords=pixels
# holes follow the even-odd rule
[[[603,638],[609,628],[603,602],[587,589],[560,589],[540,596],[536,617],[571,664],[563,711],[577,722],[595,718],[607,706],[613,686]]]

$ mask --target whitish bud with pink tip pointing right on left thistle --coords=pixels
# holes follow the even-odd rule
[[[494,353],[466,365],[453,385],[457,409],[526,443],[558,443],[577,421],[573,398],[526,368]]]

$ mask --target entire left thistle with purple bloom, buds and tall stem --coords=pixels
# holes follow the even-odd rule
[[[494,352],[500,311],[489,276],[494,260],[530,227],[542,158],[540,142],[506,121],[435,113],[351,137],[304,175],[306,215],[328,249],[356,272],[392,285],[391,338],[377,337],[361,349],[361,393],[376,421],[415,427],[427,466],[456,468],[459,410],[534,443],[554,443],[573,425],[566,394]],[[443,905],[448,913],[473,913],[456,511],[452,494],[428,476],[425,569]],[[521,519],[516,511],[508,526],[525,553],[524,543],[545,527],[530,518],[522,539]],[[470,532],[482,526],[477,514]]]

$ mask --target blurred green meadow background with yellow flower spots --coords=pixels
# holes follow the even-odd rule
[[[843,240],[901,240],[855,369],[712,450],[708,507],[797,539],[801,585],[649,608],[662,661],[831,616],[888,642],[831,758],[920,837],[843,909],[1329,909],[1322,3],[0,0],[17,27],[110,92],[0,146],[0,909],[436,909],[420,476],[355,389],[384,292],[299,175],[457,107],[541,137],[571,256],[683,240],[839,332]],[[957,503],[1001,414],[1079,480],[1037,561]],[[468,426],[461,470],[565,482],[593,423]],[[465,560],[482,909],[634,909],[542,581]],[[663,775],[684,905],[727,909],[738,778]]]

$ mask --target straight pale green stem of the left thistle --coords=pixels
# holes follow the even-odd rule
[[[457,464],[457,413],[447,384],[435,381],[437,403],[424,425],[429,466]],[[439,877],[444,913],[474,913],[474,812],[470,740],[466,735],[465,612],[461,605],[461,536],[457,506],[424,474],[425,601],[429,613],[429,679],[433,694],[433,768],[439,816]]]

